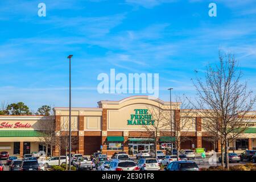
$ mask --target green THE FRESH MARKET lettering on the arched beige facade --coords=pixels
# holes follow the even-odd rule
[[[154,125],[152,115],[148,114],[147,109],[134,109],[135,113],[127,120],[127,125]]]

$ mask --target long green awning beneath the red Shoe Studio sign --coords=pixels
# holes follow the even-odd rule
[[[2,130],[0,137],[42,137],[43,133],[35,130]]]

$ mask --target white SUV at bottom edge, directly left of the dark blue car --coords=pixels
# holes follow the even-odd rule
[[[155,158],[139,159],[138,167],[141,171],[158,171],[160,170],[160,164]]]

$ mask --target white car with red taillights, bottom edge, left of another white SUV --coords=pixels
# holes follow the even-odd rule
[[[114,159],[107,167],[108,171],[139,171],[139,167],[132,160]]]

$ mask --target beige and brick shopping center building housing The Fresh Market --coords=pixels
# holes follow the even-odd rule
[[[102,151],[112,155],[117,151],[125,151],[134,155],[140,150],[153,150],[155,139],[147,128],[159,121],[156,118],[159,112],[167,116],[164,118],[172,115],[176,123],[182,123],[184,119],[187,121],[187,126],[180,131],[180,138],[184,138],[180,149],[205,148],[205,151],[211,151],[216,146],[216,150],[220,151],[220,142],[213,144],[212,136],[204,130],[205,118],[196,110],[181,110],[180,104],[172,102],[170,110],[170,102],[148,96],[134,96],[121,101],[99,101],[98,107],[94,108],[72,107],[72,138],[77,139],[72,152],[90,155]],[[55,122],[56,135],[67,134],[69,108],[55,107],[53,110],[53,117],[0,116],[0,151],[22,156],[43,150],[39,126],[45,119]],[[236,140],[235,150],[256,149],[256,112],[250,112],[247,117],[250,118],[250,128]],[[158,150],[164,151],[171,144],[175,145],[175,137],[171,137],[174,133],[170,131],[168,125],[158,130]],[[229,146],[231,149],[233,144]],[[55,147],[53,155],[62,155],[64,152]]]

